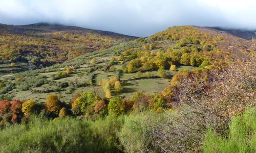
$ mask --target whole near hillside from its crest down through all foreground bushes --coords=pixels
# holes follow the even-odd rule
[[[255,152],[255,43],[177,26],[4,75],[0,151]]]

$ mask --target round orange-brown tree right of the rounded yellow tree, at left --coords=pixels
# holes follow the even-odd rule
[[[46,98],[45,106],[47,111],[57,115],[59,113],[59,110],[61,109],[58,96],[56,94],[48,95]]]

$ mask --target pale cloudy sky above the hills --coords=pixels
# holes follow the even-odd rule
[[[256,29],[256,0],[0,0],[0,23],[60,23],[145,37],[174,25]]]

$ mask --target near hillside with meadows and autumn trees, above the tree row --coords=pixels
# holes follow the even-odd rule
[[[2,77],[5,97],[32,98],[43,102],[50,93],[69,103],[76,92],[94,91],[105,96],[100,86],[103,79],[117,77],[122,92],[111,88],[112,96],[131,97],[134,92],[160,93],[169,85],[177,70],[201,71],[211,64],[224,64],[237,54],[253,51],[252,41],[229,33],[194,26],[172,27],[148,38],[115,45],[88,53],[51,67]],[[233,46],[233,47],[231,47]],[[234,54],[233,54],[234,53]],[[73,70],[67,74],[65,69]],[[199,68],[198,68],[199,67]]]

